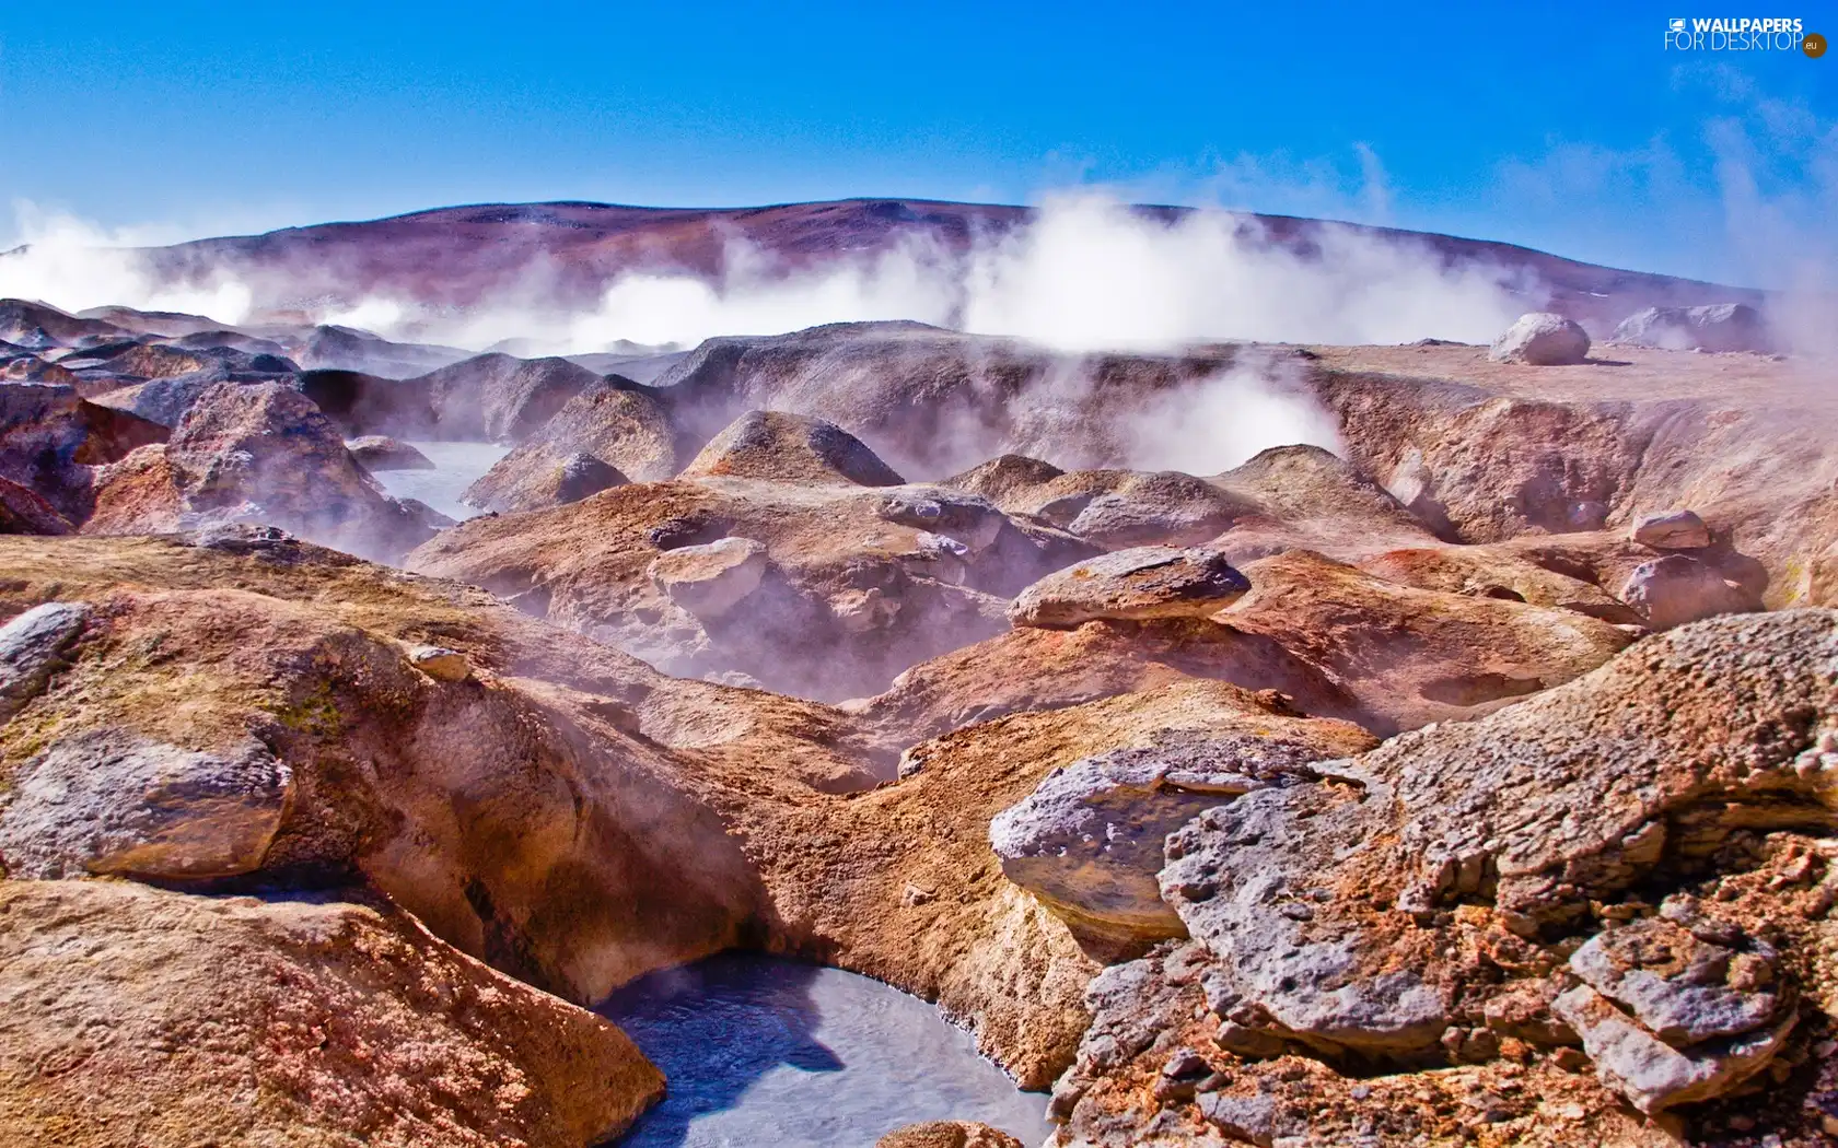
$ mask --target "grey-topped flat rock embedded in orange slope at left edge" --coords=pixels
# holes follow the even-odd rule
[[[118,872],[204,880],[261,867],[292,771],[254,738],[195,751],[125,729],[59,738],[0,797],[11,878]]]

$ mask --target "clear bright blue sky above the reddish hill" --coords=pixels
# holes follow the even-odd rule
[[[1083,182],[1753,281],[1752,242],[1827,242],[1838,219],[1838,55],[1663,50],[1669,17],[1715,13],[15,0],[0,198],[199,235]],[[1781,15],[1838,35],[1838,4]],[[1730,235],[1746,178],[1737,220],[1766,215],[1772,239]]]

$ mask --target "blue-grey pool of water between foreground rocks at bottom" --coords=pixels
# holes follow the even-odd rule
[[[915,1120],[983,1120],[1046,1141],[1046,1097],[969,1032],[880,981],[722,953],[621,988],[601,1012],[669,1080],[619,1148],[864,1148]]]

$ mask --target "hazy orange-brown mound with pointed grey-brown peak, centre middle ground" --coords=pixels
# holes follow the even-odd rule
[[[1000,632],[1009,595],[1092,555],[980,498],[888,481],[834,426],[759,415],[680,479],[476,518],[406,562],[667,672],[838,700]]]

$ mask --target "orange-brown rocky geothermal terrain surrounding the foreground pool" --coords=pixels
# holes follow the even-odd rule
[[[669,1082],[590,1008],[754,950],[1059,1148],[1834,1142],[1829,366],[1540,305],[612,364],[0,303],[0,1139],[616,1142]],[[1248,388],[1307,419],[1233,456]],[[454,443],[476,518],[386,492]],[[1018,1142],[961,1115],[862,1142]]]

